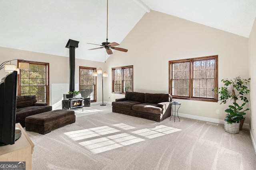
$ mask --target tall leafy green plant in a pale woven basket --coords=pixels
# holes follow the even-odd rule
[[[233,103],[233,105],[229,105],[229,108],[225,110],[228,113],[224,119],[226,132],[236,134],[239,133],[239,130],[242,130],[245,119],[244,115],[246,115],[245,111],[249,110],[243,107],[249,102],[246,95],[250,93],[247,87],[250,80],[250,78],[247,80],[240,78],[240,76],[232,80],[226,78],[221,80],[224,83],[223,87],[213,89],[215,93],[220,94],[220,104],[226,104],[228,100],[231,100]],[[241,106],[237,103],[237,100],[243,102]]]

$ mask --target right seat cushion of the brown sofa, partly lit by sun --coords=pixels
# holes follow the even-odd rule
[[[141,112],[150,112],[155,114],[162,113],[162,108],[158,107],[158,104],[150,104],[150,103],[136,104],[132,106],[132,110],[141,111]]]

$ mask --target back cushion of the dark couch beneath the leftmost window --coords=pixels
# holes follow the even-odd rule
[[[17,96],[16,97],[16,108],[34,106],[34,102],[37,102],[36,96]]]

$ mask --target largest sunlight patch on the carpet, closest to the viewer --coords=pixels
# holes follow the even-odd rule
[[[128,133],[121,133],[118,135],[102,137],[100,139],[80,142],[79,144],[90,150],[92,153],[98,154],[108,150],[132,145],[141,141],[144,141],[144,139],[129,135]]]

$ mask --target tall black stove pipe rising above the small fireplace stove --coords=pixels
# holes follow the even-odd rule
[[[69,48],[69,91],[75,91],[75,49],[78,48],[79,41],[68,40],[66,48]]]

